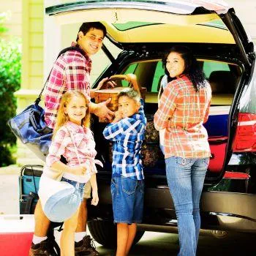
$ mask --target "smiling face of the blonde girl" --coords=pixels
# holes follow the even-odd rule
[[[82,119],[86,116],[86,99],[83,97],[72,97],[67,107],[64,108],[64,113],[69,116],[69,121],[81,125]]]

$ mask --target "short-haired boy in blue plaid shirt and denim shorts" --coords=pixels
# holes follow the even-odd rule
[[[124,89],[118,94],[118,110],[103,131],[113,141],[111,195],[114,222],[117,223],[116,255],[128,255],[137,223],[142,222],[144,175],[140,157],[146,129],[140,91]]]

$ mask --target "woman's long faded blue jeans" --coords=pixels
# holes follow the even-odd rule
[[[166,177],[178,220],[179,256],[194,256],[200,231],[200,196],[209,158],[169,157]]]

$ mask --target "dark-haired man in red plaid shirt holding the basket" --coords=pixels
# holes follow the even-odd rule
[[[79,50],[74,48],[67,50],[53,64],[45,90],[45,121],[48,127],[54,127],[61,97],[66,91],[82,91],[89,101],[94,97],[94,90],[91,89],[89,81],[91,74],[90,56],[102,48],[102,41],[106,33],[107,31],[102,23],[83,23],[78,31],[76,42],[72,43],[72,46],[79,48]],[[99,86],[107,79],[103,79]],[[113,112],[107,108],[109,102],[110,99],[99,104],[90,102],[90,112],[100,118],[111,119]],[[89,197],[91,197],[91,184],[88,182],[86,183],[84,200],[78,216],[78,227],[75,233],[75,253],[83,254],[84,252],[86,255],[99,255],[95,246],[92,245],[90,236],[87,236],[86,233],[86,199]],[[29,256],[52,255],[46,236],[50,221],[42,211],[41,203],[37,203],[34,217],[35,230]]]

